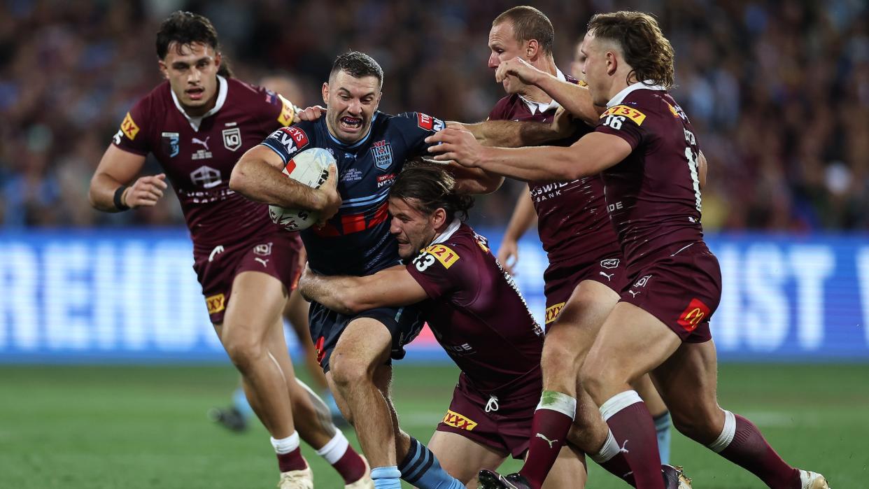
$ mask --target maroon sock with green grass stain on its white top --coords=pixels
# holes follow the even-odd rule
[[[519,471],[532,487],[543,486],[543,481],[567,439],[567,431],[574,422],[575,414],[576,399],[565,393],[543,391],[531,421],[532,434],[528,441],[528,455],[525,465]]]

